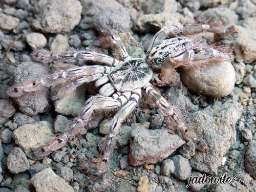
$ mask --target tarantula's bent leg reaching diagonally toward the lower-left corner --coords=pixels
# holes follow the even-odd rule
[[[87,127],[87,123],[91,120],[93,112],[118,108],[120,105],[121,103],[118,100],[111,97],[103,97],[100,95],[91,97],[87,100],[78,117],[66,127],[62,135],[54,138],[48,145],[40,146],[34,151],[34,159],[42,159],[51,152],[64,146],[69,139],[72,139],[81,132],[82,127]]]

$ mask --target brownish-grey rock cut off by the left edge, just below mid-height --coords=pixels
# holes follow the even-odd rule
[[[16,109],[8,99],[0,99],[0,125],[5,124],[13,116]]]

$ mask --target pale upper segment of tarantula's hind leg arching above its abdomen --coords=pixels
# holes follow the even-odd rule
[[[182,27],[180,26],[166,26],[162,28],[160,31],[158,31],[154,37],[151,40],[150,47],[148,47],[147,52],[149,52],[153,47],[155,47],[159,42],[162,40],[169,38],[169,37],[175,37],[179,33],[181,33]]]

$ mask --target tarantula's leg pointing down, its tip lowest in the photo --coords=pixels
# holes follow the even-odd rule
[[[110,166],[110,160],[113,155],[113,152],[116,148],[116,140],[117,135],[120,131],[120,127],[125,118],[131,114],[131,112],[135,109],[139,98],[141,95],[141,89],[137,89],[132,91],[132,95],[127,103],[117,112],[110,123],[109,127],[109,135],[106,136],[103,141],[100,143],[100,148],[102,148],[103,156],[99,163],[97,164],[96,172],[94,176],[90,179],[90,182],[96,181],[99,177],[101,177],[106,170],[108,170]]]

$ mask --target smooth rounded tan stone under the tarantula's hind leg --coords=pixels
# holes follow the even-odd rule
[[[224,97],[233,88],[236,74],[232,64],[223,61],[205,68],[181,70],[181,80],[190,90],[210,97]]]

